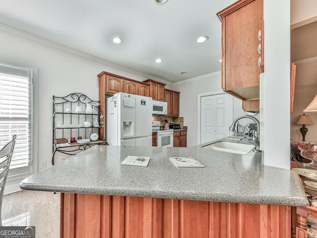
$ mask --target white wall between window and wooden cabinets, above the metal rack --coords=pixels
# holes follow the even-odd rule
[[[52,165],[53,95],[66,96],[70,93],[83,93],[92,100],[98,100],[97,75],[102,71],[140,81],[149,78],[149,75],[109,66],[1,29],[0,52],[1,62],[38,68],[38,165],[41,161],[46,161],[47,166]],[[56,154],[59,157],[60,155]],[[61,158],[67,157],[61,156]]]

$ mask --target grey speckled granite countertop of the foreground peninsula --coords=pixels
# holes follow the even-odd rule
[[[247,143],[240,141],[239,143]],[[128,155],[151,157],[148,167],[120,165]],[[205,168],[176,168],[169,157],[194,157]],[[96,145],[20,183],[26,190],[307,206],[299,176],[247,155],[182,147]]]

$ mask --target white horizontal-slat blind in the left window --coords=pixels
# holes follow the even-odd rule
[[[11,175],[12,170],[15,169],[19,173],[30,172],[32,161],[32,71],[0,65],[0,148],[8,143],[14,134],[16,134],[16,142],[9,169]]]

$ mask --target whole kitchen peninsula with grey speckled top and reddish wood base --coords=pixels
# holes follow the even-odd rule
[[[120,163],[151,157],[148,167]],[[194,157],[205,168],[176,168]],[[61,192],[60,237],[290,237],[290,206],[306,206],[298,174],[246,155],[194,146],[94,146],[20,183]]]

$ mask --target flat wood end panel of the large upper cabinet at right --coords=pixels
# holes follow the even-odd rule
[[[225,90],[259,86],[261,68],[257,49],[263,20],[262,0],[253,0],[225,16],[223,27]],[[225,24],[224,24],[225,23]],[[239,46],[239,47],[237,47]]]

